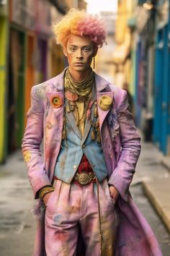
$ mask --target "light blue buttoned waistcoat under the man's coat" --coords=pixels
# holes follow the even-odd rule
[[[91,113],[93,113],[93,108]],[[62,147],[55,164],[55,176],[70,184],[79,167],[81,158],[85,154],[97,179],[102,182],[107,177],[107,166],[104,161],[102,145],[96,140],[91,140],[91,130],[93,128],[90,121],[86,119],[84,135],[81,137],[73,112],[66,113],[66,118],[68,120],[66,123],[67,140],[62,141]]]

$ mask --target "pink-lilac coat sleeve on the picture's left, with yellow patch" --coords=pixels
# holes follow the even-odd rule
[[[43,137],[44,106],[36,93],[36,86],[31,90],[31,107],[27,113],[27,126],[22,140],[22,152],[28,168],[28,178],[35,199],[40,188],[51,185],[45,172],[40,145]]]

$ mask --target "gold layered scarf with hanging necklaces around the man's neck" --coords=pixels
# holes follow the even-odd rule
[[[76,117],[76,125],[80,127],[81,121],[85,121],[86,118],[90,119],[91,127],[93,131],[91,132],[91,139],[97,140],[99,142],[99,120],[97,114],[97,103],[96,101],[91,101],[92,88],[94,83],[94,72],[91,69],[91,72],[88,77],[86,77],[81,82],[76,82],[71,77],[69,70],[66,70],[65,74],[65,98],[66,98],[66,109],[68,113],[73,111]],[[77,102],[84,103],[84,113],[79,116],[79,108]],[[93,123],[91,121],[91,108],[94,105],[94,118],[96,121]],[[63,126],[63,135],[62,138],[66,140],[66,114],[64,114],[64,126]],[[81,129],[80,129],[81,130]],[[95,134],[95,135],[94,135]],[[96,136],[98,135],[98,136]]]

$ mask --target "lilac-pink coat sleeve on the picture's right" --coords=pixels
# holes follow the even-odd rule
[[[128,95],[123,90],[122,98],[117,107],[120,125],[121,152],[117,167],[109,178],[109,184],[114,185],[122,198],[128,201],[130,183],[135,173],[135,166],[140,155],[140,136],[130,113]]]

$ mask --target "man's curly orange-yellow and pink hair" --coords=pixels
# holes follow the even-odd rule
[[[53,24],[53,33],[56,36],[56,43],[66,47],[69,36],[88,36],[97,47],[106,43],[106,27],[103,20],[97,15],[86,14],[85,10],[70,9],[63,19]]]

